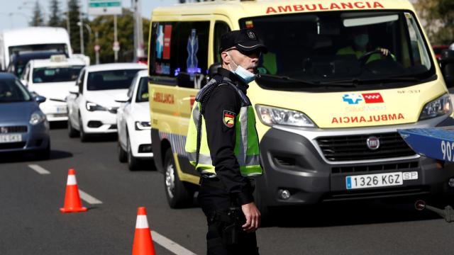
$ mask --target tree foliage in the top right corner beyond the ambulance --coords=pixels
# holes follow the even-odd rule
[[[454,42],[453,0],[418,0],[415,7],[433,44]]]

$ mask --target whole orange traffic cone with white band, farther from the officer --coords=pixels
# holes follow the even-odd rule
[[[68,171],[68,180],[66,183],[65,205],[60,208],[60,212],[86,212],[87,208],[82,207],[79,197],[79,188],[77,188],[76,171]]]

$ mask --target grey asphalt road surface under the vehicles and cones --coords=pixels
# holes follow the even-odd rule
[[[139,206],[147,208],[157,254],[206,254],[204,215],[169,208],[153,162],[128,171],[117,160],[116,137],[81,143],[61,126],[51,139],[48,161],[0,154],[0,254],[131,254]],[[90,196],[82,200],[88,212],[59,211],[69,168]],[[452,254],[454,223],[414,210],[413,202],[283,212],[277,225],[259,229],[260,253]]]

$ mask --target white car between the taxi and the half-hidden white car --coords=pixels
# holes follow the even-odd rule
[[[68,135],[79,134],[87,142],[89,135],[116,133],[120,103],[114,99],[126,94],[135,74],[146,68],[145,64],[115,63],[82,69],[67,98]]]

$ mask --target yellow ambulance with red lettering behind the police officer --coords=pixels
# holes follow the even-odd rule
[[[454,124],[409,1],[209,1],[152,15],[151,136],[172,208],[189,205],[199,183],[184,152],[194,97],[219,67],[221,35],[240,28],[253,28],[269,49],[248,89],[264,168],[255,192],[262,214],[448,191],[452,165],[439,169],[396,132]]]

